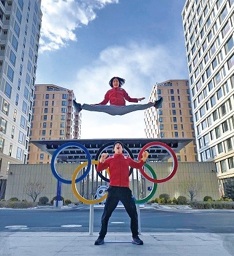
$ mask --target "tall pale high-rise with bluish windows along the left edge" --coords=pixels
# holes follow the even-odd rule
[[[0,177],[26,163],[41,19],[41,0],[0,1]]]

